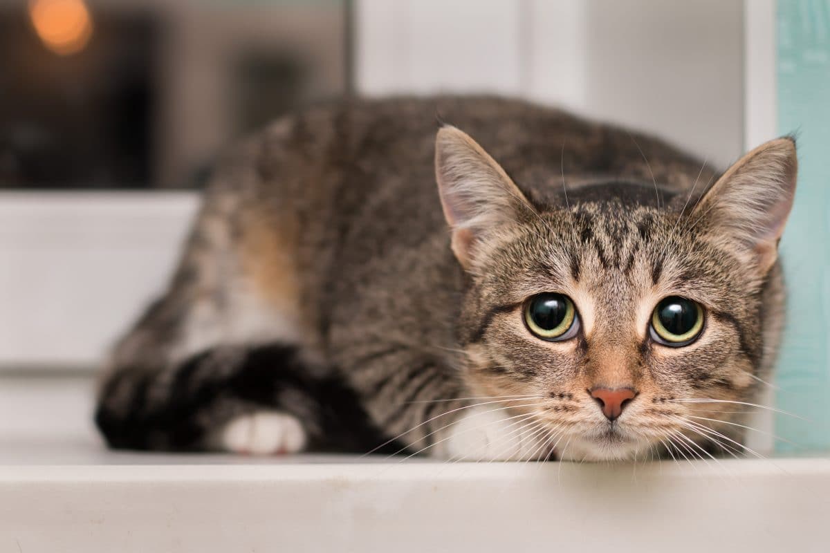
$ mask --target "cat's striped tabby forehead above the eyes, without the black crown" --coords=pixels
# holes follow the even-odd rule
[[[690,277],[708,245],[678,214],[618,198],[540,212],[494,262],[498,282],[515,296],[583,287],[603,301],[626,301],[658,284]],[[689,222],[689,221],[686,221]]]

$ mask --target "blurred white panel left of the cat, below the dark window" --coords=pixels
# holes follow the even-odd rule
[[[190,193],[0,193],[0,368],[92,366],[163,288]]]

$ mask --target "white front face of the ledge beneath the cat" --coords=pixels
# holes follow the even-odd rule
[[[0,551],[809,553],[828,508],[828,459],[8,466]]]

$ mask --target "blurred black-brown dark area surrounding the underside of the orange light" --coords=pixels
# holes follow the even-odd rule
[[[149,182],[158,44],[152,14],[96,12],[94,40],[64,56],[25,9],[0,12],[0,186]]]

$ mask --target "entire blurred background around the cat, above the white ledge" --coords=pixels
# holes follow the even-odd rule
[[[229,144],[343,95],[491,92],[715,167],[798,131],[768,400],[818,420],[775,428],[828,447],[828,58],[830,0],[0,0],[0,439],[92,435],[92,375]]]

